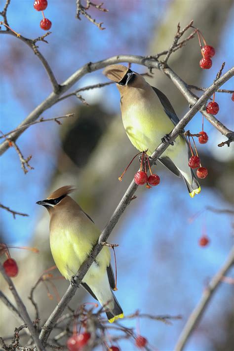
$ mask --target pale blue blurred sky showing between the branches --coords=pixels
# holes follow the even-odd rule
[[[107,28],[101,32],[85,19],[81,22],[76,20],[75,9],[70,3],[50,1],[45,14],[53,23],[53,34],[48,37],[49,45],[39,43],[39,47],[48,57],[48,61],[53,63],[55,75],[60,82],[81,65],[94,61],[94,57],[95,60],[99,60],[119,52],[147,54],[148,41],[155,19],[160,17],[166,4],[167,1],[162,1],[157,13],[156,9],[149,13],[142,1],[136,1],[135,8],[130,10],[124,2],[120,1],[120,6],[123,8],[118,10],[123,10],[122,20],[118,22],[118,33],[115,33],[115,26],[111,27],[111,21],[115,21],[114,10],[110,18],[108,14],[97,15],[104,20]],[[72,10],[74,12],[71,13]],[[138,25],[139,12],[144,26],[138,37],[135,28]],[[233,12],[234,8],[230,12],[222,35],[224,40],[217,48],[213,69],[204,74],[203,86],[212,83],[214,72],[218,71],[223,61],[226,61],[225,71],[233,63],[233,52],[230,50],[234,44]],[[32,9],[32,1],[12,2],[9,6],[8,20],[15,30],[26,37],[35,38],[44,33],[39,29],[40,14]],[[76,40],[74,40],[74,31],[77,31]],[[17,43],[17,45],[23,47],[24,44]],[[44,70],[37,57],[28,48],[23,49],[27,52],[23,64],[17,65],[16,59],[11,62],[11,55],[14,54],[14,57],[16,53],[22,55],[17,45],[15,38],[1,36],[0,48],[3,54],[0,57],[0,66],[5,70],[8,69],[12,75],[9,79],[3,75],[1,81],[0,130],[3,132],[17,126],[51,91]],[[12,51],[12,47],[16,51]],[[139,66],[133,66],[133,68],[139,70]],[[21,72],[20,75],[19,72]],[[94,73],[92,78],[82,78],[77,86],[104,79],[100,72]],[[233,86],[232,80],[224,87],[231,89]],[[108,94],[109,97],[106,108],[109,111],[112,108],[113,112],[118,112],[119,97],[116,87],[110,86],[103,89],[103,94]],[[88,95],[85,96],[88,99]],[[218,117],[228,127],[233,128],[231,96],[217,94],[216,99],[222,106]],[[46,111],[43,117],[61,116],[67,112],[69,106],[73,106],[72,103],[57,104]],[[201,115],[197,114],[189,128],[197,130],[200,126]],[[206,150],[208,155],[211,153],[219,160],[225,161],[226,157],[229,158],[227,155],[233,149],[216,146],[217,132],[206,121],[204,129],[209,135],[209,143],[205,149],[204,146],[200,147]],[[23,174],[18,156],[13,149],[8,150],[1,157],[1,202],[30,215],[30,217],[17,217],[16,220],[12,220],[9,213],[0,212],[3,234],[8,243],[27,244],[32,238],[35,224],[41,213],[41,209],[35,202],[44,196],[50,183],[50,175],[55,170],[56,152],[60,148],[58,135],[59,126],[55,123],[33,126],[23,133],[18,141],[19,146],[24,156],[33,154],[31,164],[35,167],[35,170],[29,171],[27,175]],[[117,233],[120,243],[117,249],[117,297],[126,314],[140,309],[142,312],[152,314],[169,313],[184,316],[182,321],[175,321],[173,326],[147,320],[141,322],[141,332],[151,344],[160,351],[170,351],[175,345],[186,317],[197,303],[205,282],[222,265],[232,245],[231,221],[228,215],[214,215],[206,211],[192,224],[189,223],[189,218],[208,205],[230,208],[230,204],[225,202],[222,194],[209,188],[202,189],[201,194],[192,200],[182,180],[177,181],[176,178],[164,172],[159,175],[163,178],[160,186],[150,191],[139,190],[137,202],[131,204],[121,219]],[[211,243],[208,247],[201,248],[197,242],[204,225]],[[201,328],[206,326],[206,323],[211,329],[212,325],[216,326],[213,319],[218,315],[221,305],[224,310],[231,308],[228,302],[230,297],[230,286],[222,284],[222,289],[215,294],[200,324]],[[134,325],[133,321],[125,323]],[[131,351],[134,347],[128,344],[125,350]],[[211,350],[211,344],[202,333],[202,329],[198,328],[186,350]]]

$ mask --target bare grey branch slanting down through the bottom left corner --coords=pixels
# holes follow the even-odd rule
[[[42,343],[39,340],[39,337],[36,333],[33,322],[32,322],[32,320],[31,320],[31,318],[26,310],[26,307],[25,307],[23,301],[21,300],[20,296],[18,295],[11,278],[5,273],[4,268],[2,267],[1,264],[0,264],[0,272],[3,276],[3,278],[5,279],[6,283],[8,284],[12,295],[14,296],[16,305],[18,307],[18,311],[19,311],[20,315],[22,316],[24,322],[27,324],[27,327],[30,331],[30,334],[32,335],[32,338],[35,342],[35,345],[37,346],[37,349],[39,351],[45,351],[44,347],[42,346]]]

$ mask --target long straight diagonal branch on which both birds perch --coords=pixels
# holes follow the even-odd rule
[[[156,151],[152,154],[151,164],[156,162],[157,158],[161,156],[161,154],[167,149],[167,147],[176,139],[176,137],[181,133],[187,123],[195,116],[197,111],[204,105],[205,101],[211,96],[215,89],[221,86],[225,81],[231,78],[234,75],[234,69],[228,71],[224,74],[221,78],[219,78],[215,83],[213,83],[205,92],[204,94],[196,101],[194,106],[190,109],[189,112],[180,120],[180,122],[175,126],[172,132],[168,135],[168,142],[161,143]],[[68,287],[66,293],[63,295],[62,299],[60,300],[59,304],[56,306],[54,311],[51,313],[47,321],[45,322],[44,326],[41,329],[40,333],[40,340],[42,344],[45,345],[46,341],[56,324],[57,319],[61,316],[73,296],[75,295],[78,285],[82,281],[84,275],[87,273],[89,267],[94,262],[95,258],[99,254],[102,249],[101,242],[107,241],[108,237],[112,233],[115,225],[117,224],[119,218],[121,217],[122,213],[125,211],[127,206],[131,203],[132,196],[136,192],[138,186],[135,184],[134,180],[132,180],[131,184],[129,185],[126,193],[123,195],[122,199],[120,200],[117,208],[115,209],[111,219],[107,223],[106,227],[102,231],[99,236],[98,242],[94,245],[92,251],[89,254],[89,257],[84,261],[84,263],[80,266],[78,273],[75,277],[76,285],[71,285]]]

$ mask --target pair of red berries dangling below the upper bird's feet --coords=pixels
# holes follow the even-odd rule
[[[150,189],[151,187],[155,187],[156,185],[158,185],[160,183],[160,178],[159,178],[159,176],[157,174],[153,174],[152,173],[150,162],[149,162],[149,157],[147,155],[147,151],[143,151],[142,153],[139,153],[136,156],[138,156],[140,154],[142,154],[142,156],[141,156],[141,167],[140,167],[140,171],[136,172],[136,174],[134,176],[134,181],[135,181],[135,183],[137,185],[144,185],[144,184],[146,184],[146,188]],[[134,158],[136,156],[133,157],[133,159],[128,164],[128,166],[125,168],[123,173],[120,175],[120,177],[118,177],[118,180],[120,182],[122,181],[122,177],[123,177],[124,173],[126,172],[126,170],[128,169],[128,167],[130,166],[130,164],[132,163],[132,161],[134,160]],[[147,175],[146,162],[148,162],[148,165],[149,165],[149,170],[150,170],[149,177]],[[143,168],[145,168],[145,171],[143,170]]]

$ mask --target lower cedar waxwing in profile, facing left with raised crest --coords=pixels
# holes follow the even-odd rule
[[[77,273],[101,233],[92,219],[68,195],[73,191],[71,186],[64,186],[45,200],[37,202],[49,212],[51,253],[58,270],[68,280]],[[123,318],[122,309],[112,292],[115,277],[107,246],[98,254],[81,285],[104,307],[109,322]]]

